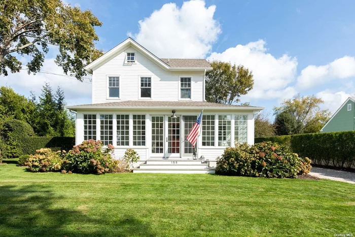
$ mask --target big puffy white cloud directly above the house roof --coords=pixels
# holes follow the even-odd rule
[[[215,5],[205,7],[200,0],[184,2],[181,8],[164,4],[138,22],[138,33],[128,36],[158,57],[204,58],[221,33],[215,11]]]

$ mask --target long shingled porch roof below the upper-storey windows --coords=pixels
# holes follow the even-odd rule
[[[255,106],[239,106],[239,105],[223,105],[217,103],[209,103],[206,101],[150,101],[150,100],[127,100],[121,102],[110,102],[101,104],[89,104],[89,105],[78,105],[78,106],[67,106],[66,108],[127,108],[127,107],[161,107],[161,108],[178,108],[178,107],[201,107],[201,108],[255,108],[260,107]]]

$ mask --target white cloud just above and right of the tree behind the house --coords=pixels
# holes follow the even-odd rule
[[[297,59],[287,54],[276,58],[267,53],[265,45],[263,40],[237,45],[222,53],[211,53],[207,59],[242,64],[253,71],[254,88],[245,98],[292,97],[296,91],[289,84],[295,79]]]

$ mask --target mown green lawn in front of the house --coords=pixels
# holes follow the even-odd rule
[[[1,236],[355,234],[355,185],[216,175],[29,173],[0,165]]]

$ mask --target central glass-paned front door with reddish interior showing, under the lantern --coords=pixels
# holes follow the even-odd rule
[[[168,117],[168,154],[167,156],[180,157],[180,117]]]

